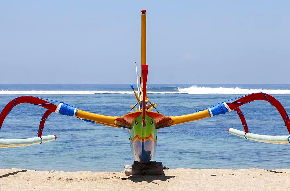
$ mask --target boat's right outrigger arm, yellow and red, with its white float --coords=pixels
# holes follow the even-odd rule
[[[255,101],[255,100],[264,100],[271,103],[271,105],[275,107],[280,113],[283,119],[284,125],[286,126],[290,134],[290,119],[289,119],[288,113],[286,112],[282,104],[277,99],[275,99],[269,94],[260,92],[260,93],[253,93],[253,94],[248,94],[248,95],[239,97],[239,99],[235,101],[231,101],[231,100],[218,103],[215,106],[212,106],[205,110],[197,111],[193,114],[170,117],[172,119],[172,123],[169,126],[191,122],[191,121],[195,121],[199,119],[204,119],[206,117],[213,117],[214,115],[220,115],[220,114],[224,114],[226,112],[234,110],[235,112],[237,112],[237,114],[239,115],[241,119],[242,125],[244,127],[244,131],[240,131],[234,128],[228,128],[229,133],[233,135],[237,135],[245,139],[254,140],[258,142],[266,142],[266,143],[274,143],[274,144],[290,144],[289,135],[273,136],[273,135],[259,135],[259,134],[251,133],[249,131],[249,127],[245,120],[244,114],[239,108],[240,106],[246,103],[250,103],[251,101]]]

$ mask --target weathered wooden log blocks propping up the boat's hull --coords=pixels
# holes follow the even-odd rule
[[[149,161],[149,163],[139,163],[134,160],[133,165],[125,165],[125,175],[160,175],[164,174],[162,162]]]

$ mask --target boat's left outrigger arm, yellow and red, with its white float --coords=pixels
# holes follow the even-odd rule
[[[34,96],[20,96],[10,101],[1,111],[0,130],[6,116],[10,113],[12,108],[14,108],[20,103],[31,103],[33,105],[38,105],[43,108],[46,108],[47,110],[40,120],[39,129],[38,129],[36,137],[28,138],[28,139],[0,139],[0,148],[26,147],[26,146],[30,146],[34,144],[41,144],[44,142],[50,142],[50,141],[56,140],[57,138],[56,135],[42,136],[44,123],[52,112],[59,113],[62,115],[77,117],[86,122],[99,123],[102,125],[119,127],[119,128],[127,128],[126,126],[123,127],[115,123],[115,120],[120,117],[112,117],[112,116],[89,113],[86,111],[78,110],[77,108],[70,106],[66,103],[62,103],[59,101],[53,101],[51,103],[49,101],[53,101],[53,100],[48,100],[48,99],[45,100],[45,99],[41,99],[39,97],[34,97]],[[58,105],[55,105],[55,103],[58,103]]]

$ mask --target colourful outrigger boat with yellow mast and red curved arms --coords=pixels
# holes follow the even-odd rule
[[[141,15],[142,29],[141,29],[140,96],[139,96],[138,75],[137,75],[138,94],[135,91],[133,85],[131,85],[135,97],[137,99],[137,103],[135,104],[135,106],[131,105],[132,107],[131,111],[134,109],[135,110],[134,112],[129,111],[129,113],[127,113],[122,117],[113,117],[89,113],[60,101],[53,101],[50,99],[44,99],[34,96],[20,96],[10,101],[1,111],[0,128],[3,124],[5,117],[9,114],[12,108],[14,108],[20,103],[31,103],[47,109],[40,120],[39,130],[37,133],[38,135],[37,137],[28,139],[1,139],[0,147],[1,148],[25,147],[56,140],[56,135],[42,136],[44,123],[52,112],[61,115],[75,117],[84,120],[86,122],[92,122],[95,124],[102,124],[106,126],[123,128],[128,130],[131,150],[135,160],[137,160],[139,163],[147,163],[149,160],[153,158],[156,152],[157,133],[159,129],[195,120],[200,120],[207,117],[213,117],[215,115],[225,114],[230,111],[234,111],[239,115],[242,125],[244,127],[244,131],[229,128],[228,129],[229,133],[240,136],[245,139],[259,142],[274,143],[274,144],[290,144],[289,140],[290,135],[271,136],[250,133],[244,114],[242,113],[239,107],[244,104],[250,103],[251,101],[264,100],[271,103],[271,105],[278,110],[283,119],[283,123],[290,134],[290,120],[287,112],[277,99],[275,99],[269,94],[262,92],[244,95],[238,97],[237,100],[235,101],[233,101],[234,99],[222,101],[216,104],[215,106],[211,106],[203,110],[198,110],[195,113],[188,115],[165,116],[159,113],[158,110],[156,109],[157,104],[151,103],[146,93],[147,74],[148,74],[148,65],[146,65],[146,10],[142,10],[141,12],[142,12]],[[138,108],[136,108],[137,105]],[[156,110],[156,112],[152,111],[153,109]]]

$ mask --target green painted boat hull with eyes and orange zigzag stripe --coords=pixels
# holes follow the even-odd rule
[[[145,115],[145,127],[142,127],[142,113],[133,120],[129,131],[132,154],[139,163],[147,163],[156,151],[157,142],[156,122]]]

